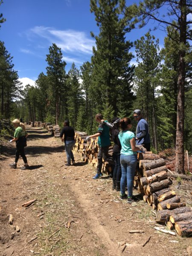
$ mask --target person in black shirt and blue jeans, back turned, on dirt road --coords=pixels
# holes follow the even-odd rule
[[[64,138],[63,138],[63,135],[64,135]],[[67,163],[65,165],[70,166],[71,160],[72,160],[72,163],[75,163],[72,149],[76,142],[75,142],[75,131],[73,127],[69,125],[68,120],[64,121],[64,127],[61,130],[60,138],[62,141],[64,141],[65,151],[67,154]]]

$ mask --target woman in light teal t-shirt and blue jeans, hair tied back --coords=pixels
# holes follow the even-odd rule
[[[120,121],[121,131],[119,132],[119,140],[121,143],[121,152],[120,152],[120,163],[121,163],[121,181],[120,181],[120,199],[126,199],[128,203],[134,201],[133,198],[133,180],[135,169],[137,166],[137,151],[140,151],[140,148],[135,146],[135,135],[130,131],[131,119],[125,117]],[[127,189],[128,195],[125,194],[125,186],[127,180]]]

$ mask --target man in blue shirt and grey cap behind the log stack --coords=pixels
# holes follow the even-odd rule
[[[138,122],[136,128],[136,146],[143,145],[147,151],[150,151],[150,136],[148,133],[148,123],[143,118],[140,109],[134,110],[134,119]]]

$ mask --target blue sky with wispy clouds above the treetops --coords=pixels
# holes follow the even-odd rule
[[[23,85],[32,85],[41,72],[46,73],[45,59],[52,43],[61,48],[66,71],[72,62],[79,68],[84,61],[90,61],[95,44],[90,31],[99,33],[95,17],[90,13],[90,0],[4,0],[0,13],[6,18],[1,24],[0,40],[13,56]],[[127,39],[139,39],[150,27],[154,27],[153,22],[143,29],[132,30]],[[163,47],[164,32],[157,30],[152,34],[160,39]],[[135,62],[136,58],[132,60]]]

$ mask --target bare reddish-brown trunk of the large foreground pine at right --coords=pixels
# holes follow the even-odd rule
[[[177,130],[175,172],[184,173],[184,106],[185,106],[185,54],[186,45],[186,0],[180,0],[180,53],[177,95]]]

